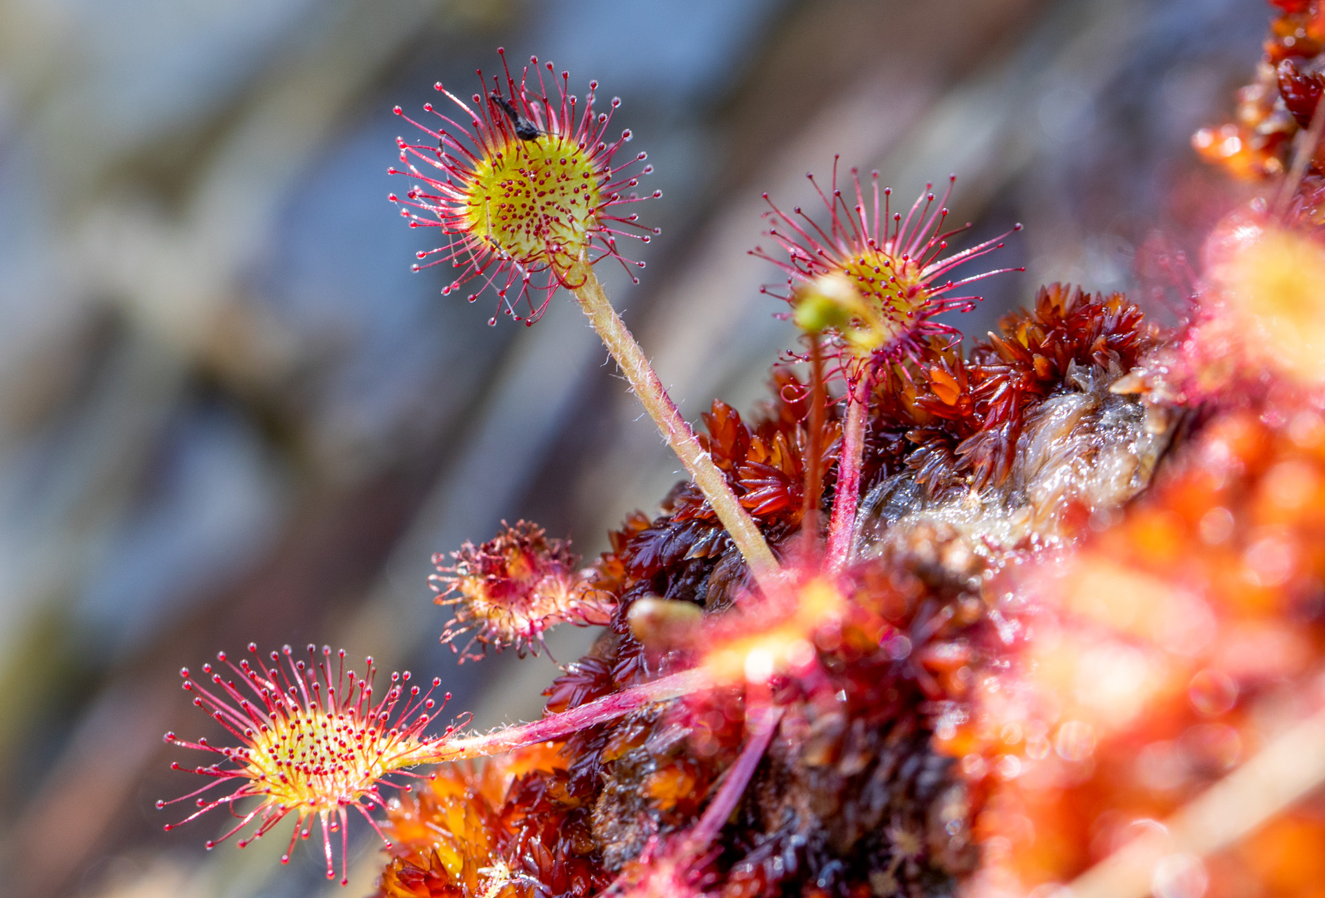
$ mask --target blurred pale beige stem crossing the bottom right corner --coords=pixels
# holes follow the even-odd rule
[[[1231,845],[1322,783],[1325,711],[1317,711],[1163,821],[1161,830],[1094,865],[1068,890],[1075,898],[1145,898],[1163,858]]]

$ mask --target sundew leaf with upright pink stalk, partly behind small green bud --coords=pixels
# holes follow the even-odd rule
[[[867,403],[873,381],[888,376],[894,362],[914,360],[935,338],[949,344],[961,332],[935,321],[945,311],[967,311],[980,299],[962,294],[962,287],[994,274],[1024,269],[996,269],[959,279],[953,269],[1003,248],[1003,237],[1020,230],[1018,224],[999,237],[945,254],[949,240],[970,228],[943,230],[947,199],[957,176],[949,177],[942,199],[925,185],[906,215],[893,212],[892,188],[878,188],[878,172],[871,174],[872,192],[867,201],[855,168],[851,179],[856,201],[848,205],[837,187],[837,163],[825,193],[814,174],[807,175],[828,209],[827,229],[799,205],[783,212],[765,193],[772,221],[767,234],[784,250],[770,256],[755,246],[753,256],[765,258],[787,274],[786,294],[792,319],[811,335],[815,352],[823,339],[837,359],[837,371],[847,380],[847,423],[843,429],[841,462],[829,519],[827,560],[845,563],[860,497],[860,464],[864,452]],[[900,368],[905,374],[905,368]]]

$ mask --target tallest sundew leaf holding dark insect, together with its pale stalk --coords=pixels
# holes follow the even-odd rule
[[[617,208],[662,195],[655,191],[651,197],[640,197],[627,192],[639,184],[639,176],[629,172],[644,162],[645,154],[615,164],[631,132],[608,138],[611,113],[594,110],[596,81],[590,82],[582,102],[568,93],[568,73],[556,78],[553,64],[541,68],[538,58],[530,57],[533,73],[538,75],[535,89],[530,69],[525,69],[517,82],[506,66],[505,53],[497,52],[502,56],[502,75],[493,77],[489,90],[482,72],[478,73],[485,93],[473,94],[474,107],[437,85],[437,90],[462,110],[469,127],[432,103],[424,109],[437,118],[436,130],[407,119],[436,146],[398,138],[405,171],[391,168],[390,172],[411,177],[415,184],[403,197],[392,193],[390,199],[401,205],[411,228],[441,228],[450,236],[448,246],[419,254],[420,258],[437,256],[431,265],[449,261],[460,269],[460,277],[443,290],[444,294],[478,279],[481,285],[469,294],[470,301],[484,289],[494,287],[500,307],[531,324],[546,311],[558,287],[574,293],[662,438],[731,534],[751,574],[757,580],[766,579],[778,567],[772,550],[681,417],[594,274],[594,264],[604,258],[644,265],[627,262],[617,253],[616,241],[623,234],[648,241],[649,234],[657,233],[639,224],[636,213]],[[555,98],[547,91],[545,69],[556,86]],[[612,110],[619,105],[613,98]],[[395,111],[404,115],[399,106]],[[649,171],[645,166],[639,174]],[[517,314],[511,302],[510,291],[517,287],[517,297],[527,303],[527,314]],[[541,293],[542,302],[534,305],[531,291]],[[496,321],[494,315],[489,323]]]

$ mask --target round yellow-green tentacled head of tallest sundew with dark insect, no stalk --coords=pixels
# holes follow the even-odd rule
[[[498,310],[531,324],[547,310],[559,286],[583,283],[583,269],[590,265],[615,258],[623,265],[644,266],[624,260],[616,238],[629,236],[648,242],[649,234],[657,233],[623,208],[649,199],[633,188],[639,187],[639,176],[653,167],[635,171],[647,158],[644,152],[613,164],[631,132],[608,135],[612,111],[621,101],[613,97],[611,111],[595,111],[596,81],[590,82],[580,102],[568,93],[568,73],[556,78],[551,62],[539,66],[538,57],[530,57],[537,89],[529,82],[529,69],[517,83],[505,53],[497,52],[504,77],[493,75],[488,90],[480,70],[486,93],[473,94],[473,106],[440,82],[436,85],[460,107],[469,127],[432,103],[424,110],[436,117],[436,130],[405,117],[432,142],[413,144],[398,138],[400,162],[408,171],[392,168],[391,174],[416,183],[403,197],[392,193],[391,199],[401,204],[411,228],[441,228],[450,237],[448,245],[419,253],[420,260],[432,258],[419,268],[450,262],[461,270],[444,294],[482,278],[482,285],[469,294],[470,302],[484,287],[494,286]],[[547,91],[543,69],[556,87],[555,97]],[[404,117],[399,106],[395,111]],[[661,195],[655,191],[652,196]],[[541,297],[538,305],[534,295]],[[526,302],[525,314],[515,309],[519,299]],[[494,315],[489,323],[496,322]]]

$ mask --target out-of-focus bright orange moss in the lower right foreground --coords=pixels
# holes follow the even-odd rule
[[[1002,850],[975,894],[1068,882],[1255,754],[1285,714],[1314,707],[1318,420],[1302,399],[1219,415],[1117,527],[1044,572],[1040,636],[1015,672],[984,682],[975,728],[988,758],[1010,728],[1039,726],[1048,744],[1014,746],[1018,775],[980,821]],[[1280,820],[1211,860],[1212,883],[1242,883],[1211,894],[1313,894],[1322,849],[1320,821]]]

